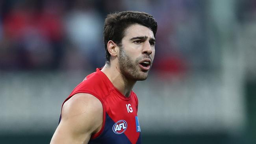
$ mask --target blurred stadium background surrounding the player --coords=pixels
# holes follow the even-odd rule
[[[104,18],[123,10],[158,21],[134,88],[143,143],[255,144],[255,0],[0,0],[0,143],[50,142],[63,100],[104,65]]]

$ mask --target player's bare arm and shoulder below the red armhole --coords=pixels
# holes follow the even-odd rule
[[[102,121],[101,102],[91,94],[75,94],[64,103],[50,144],[87,144],[91,135],[100,131]]]

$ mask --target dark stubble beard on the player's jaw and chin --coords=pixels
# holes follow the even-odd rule
[[[148,72],[139,72],[138,65],[139,61],[143,59],[143,57],[138,57],[135,61],[132,61],[132,58],[126,54],[123,50],[124,48],[120,46],[120,57],[119,60],[119,68],[122,76],[127,80],[134,81],[143,81],[148,78]]]

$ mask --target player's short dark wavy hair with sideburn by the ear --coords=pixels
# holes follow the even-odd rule
[[[118,46],[121,46],[124,31],[132,24],[140,24],[150,28],[154,37],[156,37],[157,22],[152,15],[139,11],[122,11],[110,13],[104,24],[104,45],[106,50],[106,62],[110,61],[110,54],[108,52],[108,41],[112,40]]]

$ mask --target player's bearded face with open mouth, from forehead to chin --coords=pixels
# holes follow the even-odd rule
[[[124,77],[135,81],[147,79],[154,55],[155,37],[149,28],[133,24],[124,31],[118,57]]]

